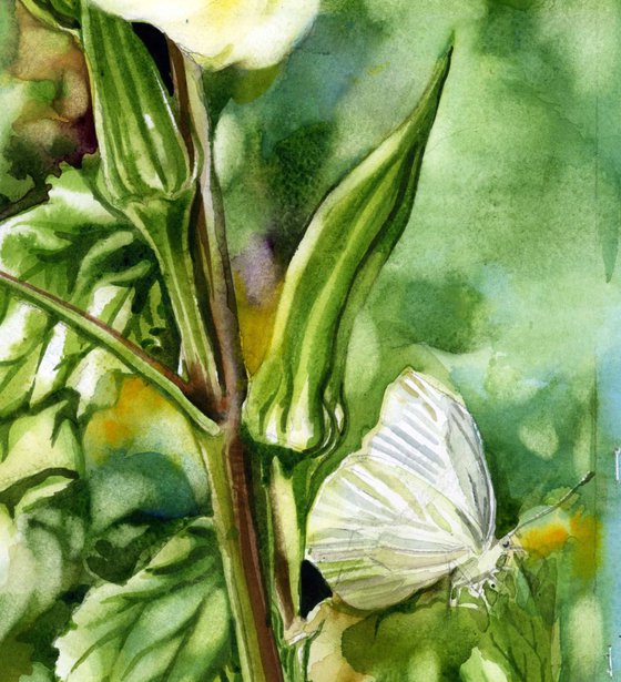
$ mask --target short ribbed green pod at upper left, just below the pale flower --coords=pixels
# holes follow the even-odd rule
[[[114,206],[174,200],[193,169],[169,94],[125,21],[84,3],[82,41],[93,90],[102,191]]]

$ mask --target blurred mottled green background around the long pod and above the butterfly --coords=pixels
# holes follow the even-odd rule
[[[45,96],[50,81],[11,74],[10,3],[0,12],[1,101]],[[358,446],[386,385],[411,365],[452,384],[475,415],[500,532],[595,469],[582,503],[597,505],[601,525],[597,580],[569,570],[560,579],[563,679],[576,681],[605,678],[609,644],[621,660],[620,29],[612,0],[324,2],[288,62],[264,74],[264,92],[237,88],[216,139],[237,282],[261,311],[322,196],[411,111],[455,32],[410,223],[356,323],[339,455]],[[41,171],[9,172],[7,112],[19,105],[2,106],[0,193],[17,201]],[[407,647],[397,655],[381,644],[421,627],[397,615],[373,635],[350,633],[355,669],[389,681],[416,668]]]

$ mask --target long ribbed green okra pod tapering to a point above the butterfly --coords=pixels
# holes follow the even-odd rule
[[[257,440],[305,451],[325,447],[340,428],[353,319],[409,221],[449,68],[450,51],[411,115],[313,217],[285,277],[266,359],[251,384],[246,421]]]

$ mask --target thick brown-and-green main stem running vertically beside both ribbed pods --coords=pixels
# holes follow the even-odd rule
[[[246,374],[222,207],[214,171],[212,130],[201,69],[169,43],[182,121],[191,122],[184,138],[191,156],[201,161],[195,211],[195,262],[208,297],[215,336],[215,359],[224,387],[221,448],[206,442],[204,456],[212,486],[214,521],[233,615],[243,676],[247,682],[279,682],[283,672],[262,574],[254,526],[252,469],[241,438]]]

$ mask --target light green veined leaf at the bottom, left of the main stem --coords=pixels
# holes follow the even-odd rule
[[[124,586],[91,590],[57,640],[64,682],[213,680],[230,656],[231,614],[215,533],[192,522]]]

